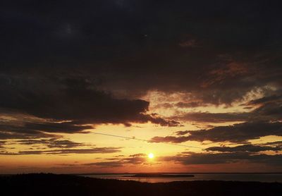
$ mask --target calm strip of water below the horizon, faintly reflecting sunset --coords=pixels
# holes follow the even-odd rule
[[[233,181],[259,181],[259,182],[279,182],[282,183],[282,174],[194,174],[192,178],[134,178],[126,174],[114,175],[90,175],[91,178],[105,178],[117,180],[136,180],[147,183],[166,183],[172,181],[190,181],[190,180],[233,180]],[[128,177],[124,177],[128,176]]]

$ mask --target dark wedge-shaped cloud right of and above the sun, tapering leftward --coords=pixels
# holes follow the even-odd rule
[[[212,142],[246,142],[267,135],[282,136],[282,123],[280,122],[247,122],[235,125],[218,126],[209,130],[178,131],[180,136],[153,137],[152,142],[186,142],[209,140]],[[185,136],[183,136],[185,135]],[[186,136],[187,135],[187,136]]]

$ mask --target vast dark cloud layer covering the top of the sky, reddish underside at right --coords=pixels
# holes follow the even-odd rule
[[[125,97],[192,92],[212,104],[281,85],[280,3],[118,2],[4,2],[1,70],[37,81],[82,75]]]

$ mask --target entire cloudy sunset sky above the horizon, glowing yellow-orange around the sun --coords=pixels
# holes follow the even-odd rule
[[[281,19],[281,1],[1,1],[0,173],[282,172]]]

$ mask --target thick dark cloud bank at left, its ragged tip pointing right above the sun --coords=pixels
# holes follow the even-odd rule
[[[42,130],[54,133],[75,133],[91,128],[78,125],[81,123],[124,123],[129,125],[151,121],[160,125],[179,125],[176,121],[166,121],[159,116],[145,114],[148,111],[149,102],[140,99],[116,99],[109,93],[93,89],[92,84],[84,79],[63,80],[59,83],[61,88],[53,87],[49,83],[51,89],[34,87],[36,83],[35,80],[31,81],[32,87],[30,88],[16,85],[13,88],[2,90],[0,106],[39,118],[71,122],[26,123],[27,132],[28,130]]]

